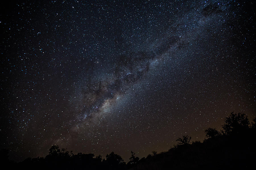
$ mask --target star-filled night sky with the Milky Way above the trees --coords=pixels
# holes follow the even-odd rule
[[[256,116],[253,1],[1,3],[0,146],[10,159],[128,162]],[[254,38],[253,38],[254,37]]]

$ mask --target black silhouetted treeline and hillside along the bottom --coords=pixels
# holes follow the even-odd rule
[[[131,152],[128,163],[114,152],[102,159],[101,155],[73,154],[55,145],[45,158],[27,158],[15,163],[8,159],[7,150],[1,150],[0,156],[2,166],[15,169],[249,169],[256,167],[256,118],[253,121],[250,123],[245,114],[232,112],[225,118],[220,131],[205,130],[203,143],[191,142],[190,136],[182,136],[166,152],[153,151],[141,159]]]

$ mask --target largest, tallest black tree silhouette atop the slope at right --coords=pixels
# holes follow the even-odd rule
[[[222,125],[223,133],[238,133],[244,129],[249,128],[250,122],[247,116],[242,113],[234,113],[232,112],[228,117],[224,120],[224,125]]]

